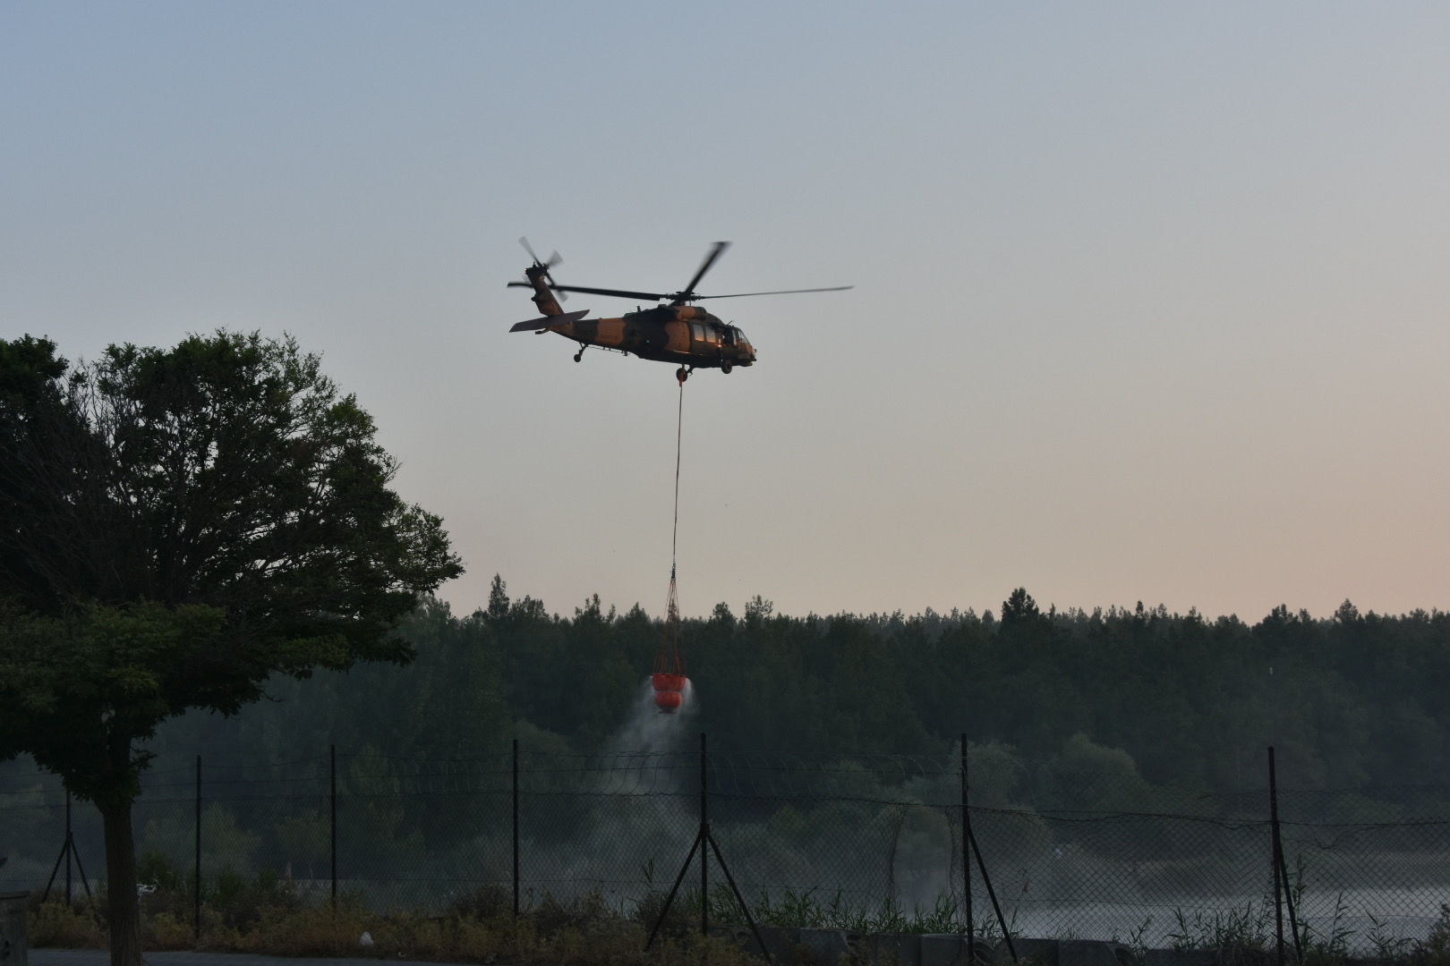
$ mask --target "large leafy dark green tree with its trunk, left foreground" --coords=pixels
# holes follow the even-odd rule
[[[130,805],[165,718],[271,675],[405,663],[461,572],[373,420],[291,339],[218,332],[71,368],[0,340],[0,760],[100,810],[113,966],[139,966]]]

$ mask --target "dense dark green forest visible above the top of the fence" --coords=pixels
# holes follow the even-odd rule
[[[277,681],[239,718],[191,714],[160,753],[267,762],[339,749],[477,757],[519,736],[596,750],[642,698],[663,624],[638,605],[573,616],[510,601],[460,617],[426,602],[406,668]],[[961,731],[1024,757],[1121,749],[1157,785],[1263,786],[1275,744],[1288,788],[1444,784],[1450,614],[1331,617],[1280,607],[1256,624],[1196,611],[1041,611],[1022,589],[1000,614],[787,617],[758,597],[683,627],[695,717],[682,739],[829,755],[945,752]],[[687,734],[684,734],[687,731]],[[1088,739],[1088,742],[1083,740]],[[1116,760],[1122,760],[1118,755]]]

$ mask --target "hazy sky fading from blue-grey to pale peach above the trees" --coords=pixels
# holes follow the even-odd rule
[[[0,3],[0,333],[290,332],[468,572],[680,597],[1450,607],[1444,3]],[[567,308],[632,303],[574,295]]]

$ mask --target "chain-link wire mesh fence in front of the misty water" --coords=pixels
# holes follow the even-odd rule
[[[970,898],[987,936],[999,923],[1019,936],[1138,946],[1272,936],[1267,789],[1157,788],[1131,769],[985,747],[967,762],[964,812],[963,765],[960,755],[516,746],[468,760],[319,749],[223,768],[203,756],[155,762],[133,827],[142,881],[194,882],[200,856],[204,891],[286,876],[304,899],[341,892],[374,908],[492,902],[502,912],[590,894],[629,911],[658,904],[674,882],[703,807],[764,923],[960,931]],[[1450,788],[1280,791],[1277,805],[1301,933],[1359,950],[1428,933],[1450,901]],[[963,814],[976,853],[963,847]],[[94,889],[104,879],[100,821],[77,804],[71,824]],[[12,769],[0,828],[0,891],[45,888],[52,875],[52,892],[65,888],[65,795],[54,776]],[[80,869],[71,876],[80,898]],[[738,912],[715,863],[710,876],[715,914]],[[684,883],[697,901],[697,865]]]

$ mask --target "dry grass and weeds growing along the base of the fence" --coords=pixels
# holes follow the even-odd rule
[[[277,956],[360,956],[381,959],[439,960],[457,963],[509,962],[525,966],[535,963],[568,963],[580,966],[690,966],[706,959],[716,966],[758,963],[726,938],[699,936],[699,889],[684,889],[671,904],[660,937],[650,953],[644,953],[650,928],[664,911],[664,892],[647,869],[650,886],[626,908],[612,905],[597,891],[586,891],[570,898],[550,892],[529,892],[515,920],[512,894],[502,886],[483,886],[457,898],[450,908],[392,910],[380,912],[367,908],[360,894],[344,894],[336,908],[331,902],[316,904],[297,894],[290,879],[262,872],[252,878],[220,873],[204,882],[202,892],[202,930],[196,934],[193,921],[194,883],[162,857],[145,856],[141,869],[145,881],[155,883],[142,896],[142,943],[146,950],[213,950],[248,952]],[[1290,894],[1302,908],[1304,870],[1290,876]],[[822,895],[816,889],[783,889],[771,895],[761,892],[751,908],[760,925],[840,928],[854,933],[958,933],[956,902],[947,895],[932,908],[906,912],[899,902],[886,901],[876,907],[853,904],[844,892]],[[104,949],[106,896],[94,905],[67,905],[62,899],[33,902],[29,915],[32,947]],[[734,892],[716,883],[709,894],[709,918],[715,924],[744,924],[745,915]],[[1346,925],[1348,910],[1343,898],[1327,921],[1317,928],[1301,923],[1304,966],[1335,966],[1348,960],[1356,933]],[[1174,927],[1169,933],[1174,949],[1215,949],[1219,962],[1263,962],[1273,947],[1273,898],[1241,908],[1174,912]],[[1286,923],[1288,924],[1288,923]],[[1000,938],[995,920],[979,923],[979,934],[986,927]],[[1128,943],[1144,952],[1143,937],[1151,925],[1146,920],[1132,931]],[[1015,921],[1008,923],[1018,936]],[[364,950],[361,936],[371,936],[373,946]],[[1396,938],[1379,923],[1366,931],[1367,943],[1378,960],[1404,966],[1450,966],[1450,904],[1424,940]]]

